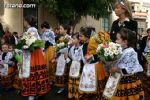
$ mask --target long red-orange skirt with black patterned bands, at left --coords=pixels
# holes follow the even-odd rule
[[[31,52],[30,77],[22,79],[23,96],[45,94],[50,90],[48,73],[41,49]]]

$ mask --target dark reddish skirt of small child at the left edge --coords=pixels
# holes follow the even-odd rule
[[[13,87],[13,81],[15,77],[15,69],[12,66],[9,66],[8,68],[8,75],[7,76],[1,76],[1,84],[4,88],[12,88]]]

